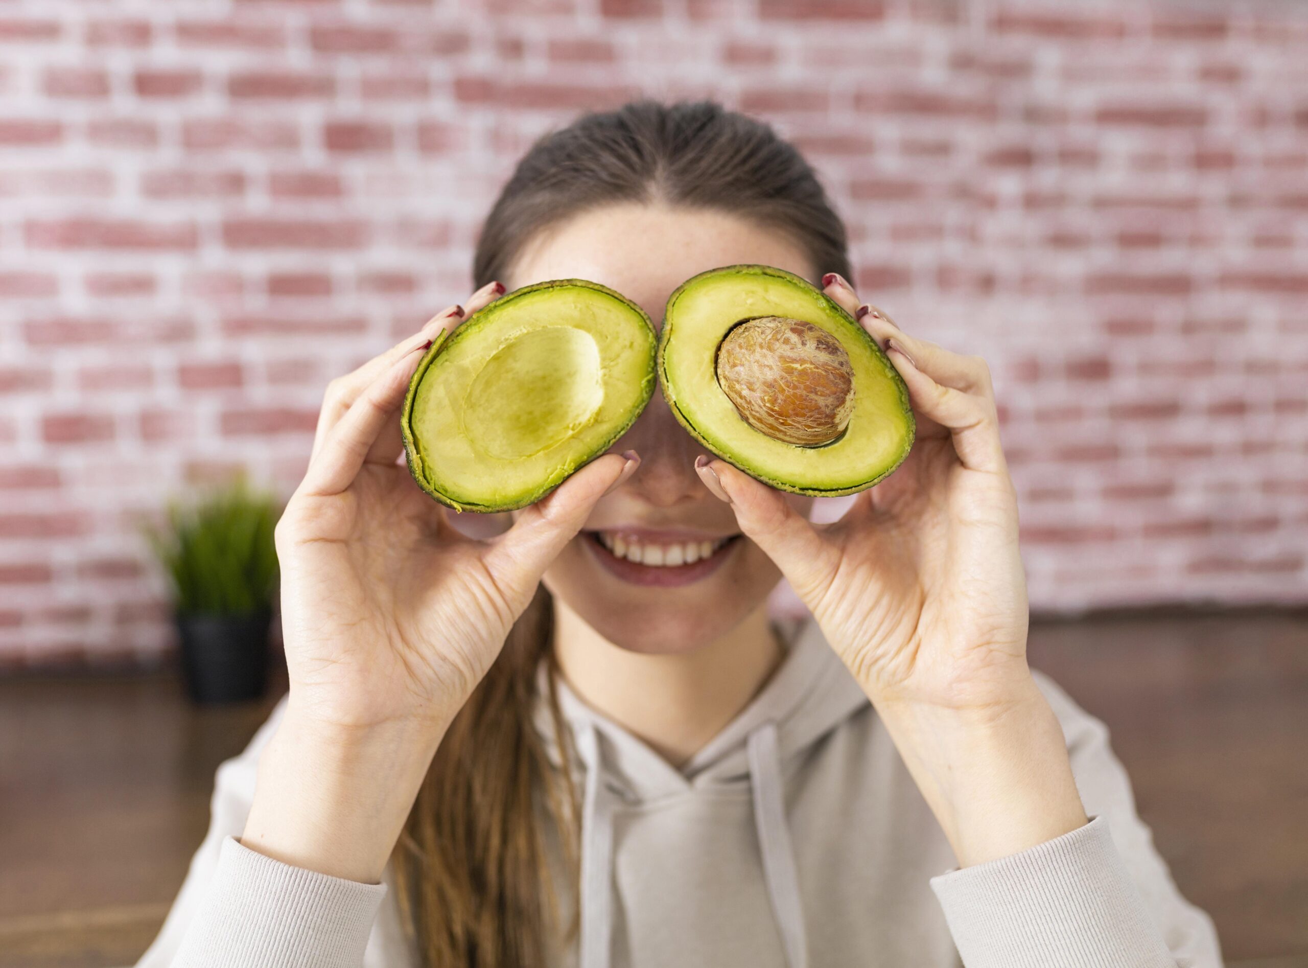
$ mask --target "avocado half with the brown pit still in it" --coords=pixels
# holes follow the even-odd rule
[[[705,447],[781,491],[852,494],[913,446],[908,387],[811,283],[769,266],[687,280],[667,302],[658,378]]]

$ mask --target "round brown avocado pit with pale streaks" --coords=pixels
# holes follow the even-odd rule
[[[854,368],[840,340],[789,317],[746,319],[718,345],[718,386],[759,433],[820,447],[854,412]]]

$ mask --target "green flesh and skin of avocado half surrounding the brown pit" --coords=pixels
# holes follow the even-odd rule
[[[798,319],[840,341],[853,369],[853,409],[829,443],[799,446],[763,433],[718,383],[717,352],[739,323]],[[727,266],[687,280],[667,302],[658,378],[672,413],[712,453],[770,487],[836,497],[876,484],[913,446],[908,387],[876,341],[825,293],[770,266]]]

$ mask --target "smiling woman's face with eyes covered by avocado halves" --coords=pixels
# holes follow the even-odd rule
[[[587,279],[638,303],[662,326],[663,307],[681,283],[739,263],[815,275],[803,251],[776,230],[721,212],[623,204],[543,233],[502,281],[515,289]],[[582,532],[545,572],[545,587],[604,638],[632,651],[689,651],[726,634],[781,576],[740,535],[731,508],[696,476],[695,458],[708,451],[676,423],[659,391],[612,450],[636,450],[640,468],[600,498]],[[810,498],[787,498],[807,514]],[[667,564],[706,547],[712,553],[695,564]]]

